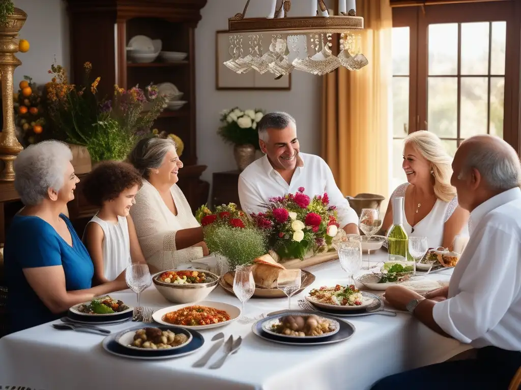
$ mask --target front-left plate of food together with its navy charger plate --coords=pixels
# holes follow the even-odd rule
[[[175,341],[172,341],[171,347],[165,347],[162,345],[160,348],[158,345],[162,344],[159,339],[154,339],[158,341],[158,343],[153,343],[156,348],[152,347],[150,341],[147,344],[147,347],[144,347],[144,342],[136,347],[135,345],[124,345],[126,342],[133,342],[136,333],[141,333],[144,330],[144,334],[148,333],[151,335],[151,340],[154,339],[154,336],[158,336],[161,334],[163,336],[163,332],[166,332],[167,343],[168,343],[168,332],[172,332],[175,334],[174,338],[180,334],[183,334],[184,337],[190,339],[188,342],[184,340],[184,337],[178,337],[178,342],[182,342],[181,345],[177,346]],[[188,336],[190,334],[190,336]],[[191,338],[190,338],[191,337]],[[142,339],[141,336],[138,338]],[[170,337],[171,338],[171,337]],[[182,340],[181,340],[182,339]],[[132,344],[132,343],[131,343]],[[181,356],[186,356],[193,354],[197,350],[201,349],[204,345],[204,337],[201,333],[194,330],[180,329],[179,327],[168,327],[168,326],[158,326],[155,328],[143,328],[137,327],[132,329],[127,329],[123,332],[112,334],[107,337],[102,342],[103,348],[109,353],[120,357],[125,357],[129,359],[143,359],[143,360],[159,360],[159,359],[171,359],[177,358]]]

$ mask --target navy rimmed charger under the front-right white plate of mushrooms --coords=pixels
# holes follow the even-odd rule
[[[276,316],[270,316],[263,318],[257,322],[255,322],[252,326],[252,332],[261,337],[261,339],[264,339],[266,341],[271,341],[273,343],[279,343],[279,344],[288,344],[288,345],[296,345],[296,346],[305,346],[305,345],[324,345],[324,344],[333,344],[333,343],[339,343],[341,341],[348,340],[353,333],[355,332],[355,327],[352,323],[345,321],[345,320],[337,320],[332,317],[321,315],[321,317],[328,318],[332,321],[338,321],[340,329],[337,333],[328,336],[328,337],[321,337],[319,339],[316,339],[314,337],[294,337],[293,339],[288,339],[288,337],[283,336],[276,336],[270,333],[267,333],[263,330],[263,323],[266,321],[270,321],[274,318],[279,318],[282,316],[291,316],[291,315],[317,315],[316,313],[313,313],[312,311],[288,311],[287,313],[280,313]]]

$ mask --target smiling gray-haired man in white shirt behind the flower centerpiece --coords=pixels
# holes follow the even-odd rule
[[[358,216],[334,181],[331,169],[314,154],[300,153],[296,123],[285,112],[271,112],[257,123],[264,157],[246,167],[239,176],[239,200],[248,214],[265,210],[271,197],[295,193],[304,187],[310,198],[327,192],[337,207],[338,222],[346,233],[358,234]]]

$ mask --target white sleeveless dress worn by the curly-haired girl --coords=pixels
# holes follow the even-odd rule
[[[118,216],[118,223],[111,224],[98,218],[97,214],[89,223],[101,226],[103,239],[103,275],[108,280],[114,280],[131,263],[130,238],[127,218]]]

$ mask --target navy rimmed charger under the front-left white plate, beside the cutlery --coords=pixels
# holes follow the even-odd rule
[[[128,331],[136,331],[138,329],[143,329],[144,327],[134,327],[131,329],[127,329],[125,332]],[[165,327],[165,326],[157,326],[154,328],[159,328],[162,330],[167,329],[175,329],[176,327]],[[142,351],[139,349],[134,348],[127,348],[125,346],[122,346],[117,341],[118,334],[112,334],[107,337],[102,342],[103,349],[105,349],[109,354],[129,358],[129,359],[143,359],[143,360],[160,360],[160,359],[172,359],[177,358],[181,356],[186,356],[193,354],[197,350],[201,349],[201,347],[204,345],[204,337],[201,333],[195,331],[195,330],[187,330],[192,334],[192,341],[188,343],[187,345],[181,347],[181,348],[174,348],[174,349],[154,349],[151,351],[150,349],[143,349]]]

